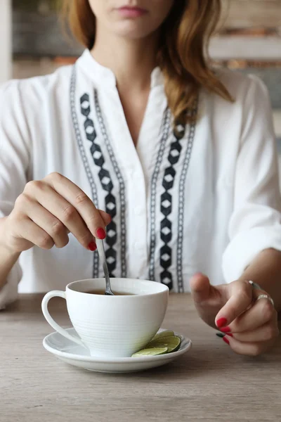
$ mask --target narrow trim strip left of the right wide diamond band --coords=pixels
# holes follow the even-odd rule
[[[155,164],[155,170],[152,174],[151,181],[151,196],[150,196],[150,268],[149,268],[149,279],[155,280],[155,246],[156,246],[156,198],[157,198],[157,180],[159,177],[159,171],[162,164],[166,141],[169,137],[171,124],[171,110],[166,108],[164,113],[164,119],[162,124],[162,139],[159,145],[159,151],[157,154],[157,161]]]

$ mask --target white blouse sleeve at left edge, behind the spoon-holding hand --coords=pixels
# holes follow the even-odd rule
[[[20,82],[8,82],[0,88],[0,217],[10,214],[27,182],[29,138]],[[17,298],[21,278],[17,262],[0,290],[0,309]]]

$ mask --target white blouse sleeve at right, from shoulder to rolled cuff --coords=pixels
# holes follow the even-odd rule
[[[227,283],[239,279],[262,250],[281,250],[281,198],[270,99],[259,78],[249,80],[242,110],[230,243],[223,254]]]

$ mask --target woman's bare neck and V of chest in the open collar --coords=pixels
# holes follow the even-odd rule
[[[151,72],[157,64],[158,36],[125,39],[97,30],[91,51],[101,65],[114,72],[129,132],[136,145],[150,93]]]

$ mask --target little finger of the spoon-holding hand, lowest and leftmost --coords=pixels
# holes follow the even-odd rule
[[[51,236],[28,217],[20,221],[18,234],[25,241],[29,241],[41,249],[49,250],[53,248],[54,242]]]

